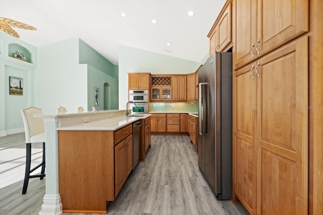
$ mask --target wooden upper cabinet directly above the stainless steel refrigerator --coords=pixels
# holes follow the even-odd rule
[[[210,56],[214,51],[223,51],[231,43],[231,1],[227,1],[207,37],[210,38]]]

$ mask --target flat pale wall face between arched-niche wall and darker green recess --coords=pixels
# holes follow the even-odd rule
[[[45,113],[60,106],[69,113],[87,106],[87,66],[79,62],[79,39],[70,38],[38,48],[35,105]]]

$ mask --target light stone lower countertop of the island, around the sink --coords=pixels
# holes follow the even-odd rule
[[[143,116],[116,116],[89,122],[83,122],[74,125],[58,127],[57,130],[118,130],[126,125],[145,119],[151,114],[142,114]]]

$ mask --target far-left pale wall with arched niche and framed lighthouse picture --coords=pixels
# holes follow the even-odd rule
[[[28,55],[32,63],[13,58],[13,49]],[[0,32],[0,136],[24,131],[20,109],[34,105],[34,69],[37,62],[37,47]],[[9,94],[10,76],[23,79],[22,96]]]

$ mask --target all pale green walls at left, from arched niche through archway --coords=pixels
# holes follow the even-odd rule
[[[11,57],[13,50],[30,52],[30,62]],[[10,76],[23,79],[22,96],[9,95]],[[37,48],[0,32],[0,78],[0,136],[24,131],[20,109],[25,107],[36,106],[50,114],[60,106],[68,113],[80,106],[92,110],[94,86],[103,89],[104,83],[109,85],[110,108],[118,109],[119,66],[79,38]]]

